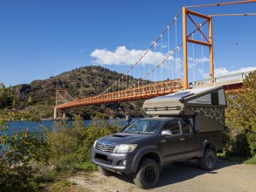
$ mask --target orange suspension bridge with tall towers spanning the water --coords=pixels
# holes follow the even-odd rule
[[[255,2],[211,3],[183,7],[149,49],[144,51],[128,71],[103,93],[84,99],[73,99],[66,90],[57,90],[54,118],[57,117],[57,110],[149,99],[199,85],[218,84],[224,85],[226,89],[238,89],[246,73],[214,77],[212,17],[256,16],[256,13],[206,16],[188,8]],[[202,80],[198,80],[199,74],[202,75]],[[208,74],[208,79],[203,79],[205,74]],[[136,80],[131,78],[135,76]],[[189,79],[192,79],[191,83]]]

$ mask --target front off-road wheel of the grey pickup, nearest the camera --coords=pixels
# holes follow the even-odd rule
[[[151,189],[158,182],[159,174],[160,170],[156,161],[145,158],[142,160],[137,173],[133,175],[133,180],[138,188]]]

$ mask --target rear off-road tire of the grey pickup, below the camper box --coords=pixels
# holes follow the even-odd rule
[[[199,159],[200,167],[204,170],[212,170],[216,166],[217,156],[211,148],[204,150],[204,155]]]

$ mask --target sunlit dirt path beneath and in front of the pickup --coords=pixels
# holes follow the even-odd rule
[[[74,176],[68,179],[75,183],[74,191],[132,192],[145,191],[135,186],[125,175],[105,177],[99,172],[90,176]],[[197,161],[172,163],[163,168],[158,184],[149,191],[256,191],[256,166],[218,161],[211,172],[198,168]]]

